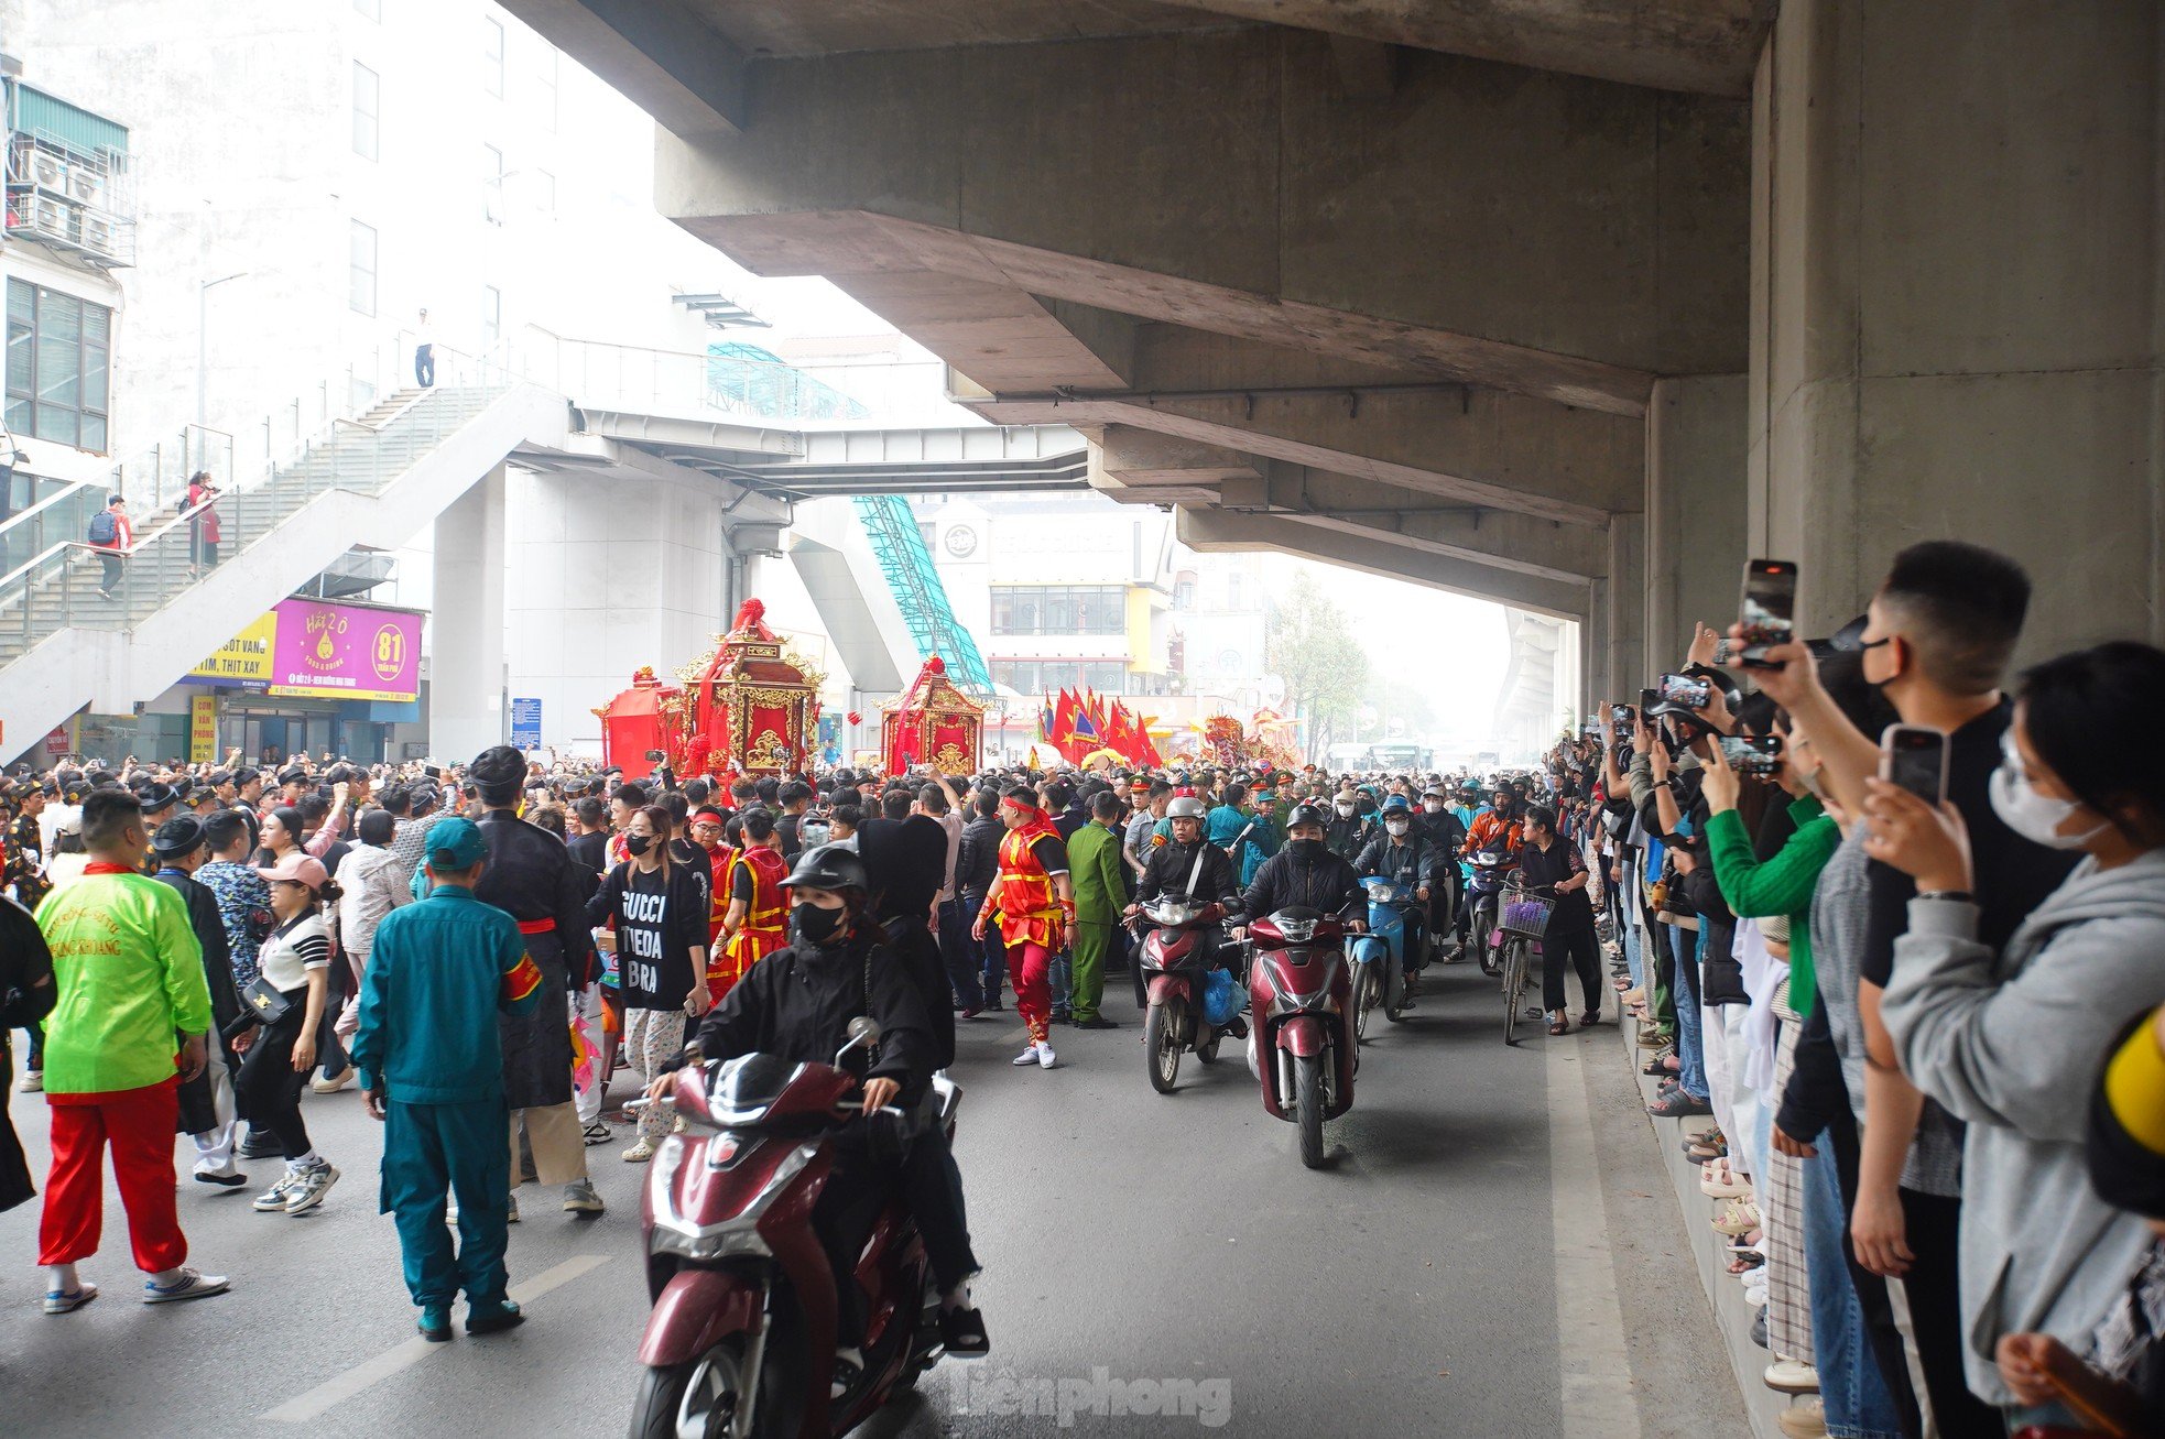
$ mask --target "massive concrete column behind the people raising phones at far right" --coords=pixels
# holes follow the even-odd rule
[[[1953,537],[2050,580],[2022,658],[2161,638],[2161,24],[1782,4],[1751,117],[1747,545],[1801,565],[1806,634]]]

